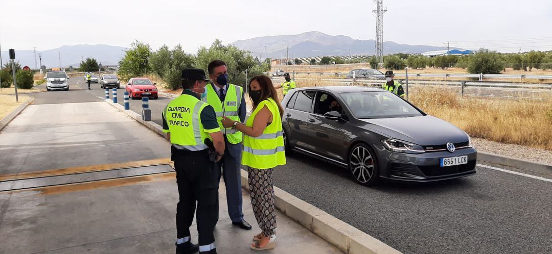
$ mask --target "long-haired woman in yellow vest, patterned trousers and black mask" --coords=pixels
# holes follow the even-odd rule
[[[272,170],[285,165],[282,129],[283,109],[270,78],[258,75],[251,79],[249,96],[253,111],[245,124],[223,117],[222,125],[241,131],[242,164],[247,166],[251,205],[262,232],[253,236],[253,250],[275,247],[276,212]]]

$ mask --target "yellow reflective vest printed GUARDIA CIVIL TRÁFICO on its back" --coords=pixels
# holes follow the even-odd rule
[[[163,110],[163,116],[171,132],[171,143],[178,149],[199,151],[207,149],[204,143],[206,138],[211,139],[208,133],[219,132],[220,128],[205,129],[201,123],[201,111],[206,104],[192,95],[183,94],[169,102]]]

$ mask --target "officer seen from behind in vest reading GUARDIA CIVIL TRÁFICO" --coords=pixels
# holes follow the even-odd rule
[[[224,138],[215,111],[200,99],[206,95],[201,69],[182,71],[182,95],[163,110],[163,131],[171,142],[178,185],[176,253],[216,253],[213,229],[219,217],[219,179],[214,168],[224,156]],[[197,202],[199,246],[190,241]]]

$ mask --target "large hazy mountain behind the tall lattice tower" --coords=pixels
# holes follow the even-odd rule
[[[349,55],[349,51],[351,55],[375,55],[375,40],[356,40],[344,35],[332,36],[318,31],[297,35],[262,36],[235,41],[232,44],[242,50],[251,51],[253,56],[262,56],[262,58],[285,57],[286,47],[288,47],[289,57],[346,56]],[[384,41],[383,48],[384,55],[447,49],[447,47],[397,44],[392,41]]]

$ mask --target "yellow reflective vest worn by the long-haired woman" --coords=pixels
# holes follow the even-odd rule
[[[276,102],[271,98],[261,101],[247,119],[246,126],[253,126],[255,116],[264,106],[267,106],[272,113],[272,123],[259,137],[247,135],[243,137],[242,165],[255,169],[272,169],[278,165],[285,165],[282,116]]]

